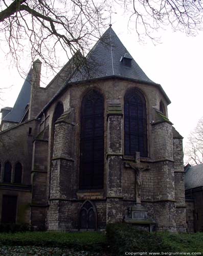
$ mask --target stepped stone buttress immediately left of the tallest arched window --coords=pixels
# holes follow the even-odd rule
[[[64,112],[54,127],[48,216],[50,230],[68,230],[72,227],[75,123],[71,116],[72,110]]]

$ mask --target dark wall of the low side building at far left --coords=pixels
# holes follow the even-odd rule
[[[33,138],[38,133],[39,121],[30,120],[8,129],[0,134],[0,162],[2,164],[0,182],[0,202],[3,195],[17,196],[16,223],[30,223],[31,204],[31,170]],[[29,130],[32,129],[29,134]],[[4,164],[9,161],[12,165],[11,183],[4,183]],[[21,184],[14,183],[16,162],[22,165]],[[0,219],[2,203],[0,203]]]

